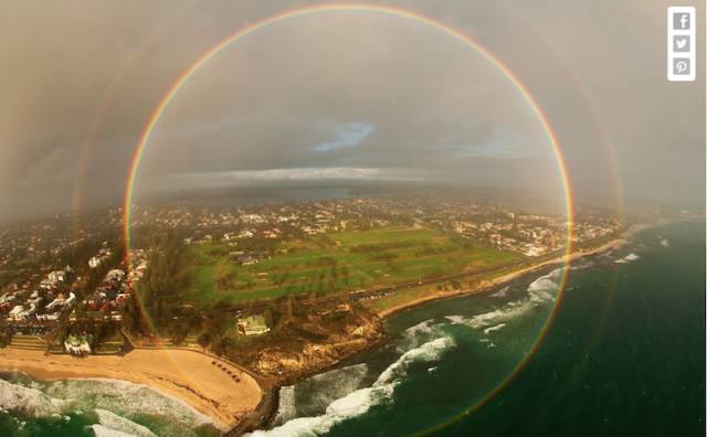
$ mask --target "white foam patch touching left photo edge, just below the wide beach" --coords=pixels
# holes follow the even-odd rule
[[[70,401],[52,397],[36,388],[0,380],[0,409],[40,417],[59,414],[70,406]]]

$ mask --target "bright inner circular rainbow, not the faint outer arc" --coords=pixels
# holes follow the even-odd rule
[[[203,53],[199,58],[197,58],[187,70],[184,70],[179,75],[179,77],[172,83],[168,92],[165,94],[162,99],[157,105],[156,109],[149,117],[147,125],[145,126],[145,128],[140,134],[139,141],[133,153],[133,159],[130,162],[127,182],[126,182],[126,189],[125,189],[125,198],[124,198],[124,205],[123,205],[123,214],[124,214],[123,226],[124,226],[125,244],[126,244],[126,248],[129,249],[131,245],[131,233],[130,233],[131,205],[133,205],[133,198],[134,198],[134,191],[135,191],[135,182],[136,182],[136,177],[137,177],[137,171],[140,164],[140,160],[150,140],[152,130],[159,122],[165,110],[169,107],[170,103],[172,102],[175,96],[179,93],[179,90],[184,86],[184,84],[187,84],[187,82],[189,82],[189,79],[194,75],[194,73],[197,73],[212,57],[218,55],[221,51],[223,51],[229,45],[240,41],[241,39],[258,30],[267,28],[271,24],[275,24],[285,20],[289,20],[298,17],[312,15],[312,14],[327,13],[327,12],[369,12],[369,13],[380,13],[380,14],[405,19],[405,20],[435,29],[441,33],[455,39],[456,41],[464,44],[465,46],[473,50],[474,52],[483,55],[510,82],[510,84],[513,84],[513,86],[518,90],[518,93],[520,93],[520,95],[524,97],[526,103],[529,105],[530,109],[532,110],[538,121],[542,126],[542,129],[547,135],[550,146],[552,147],[552,150],[555,152],[555,157],[557,160],[557,164],[558,164],[558,170],[560,173],[563,198],[564,198],[564,209],[566,209],[564,213],[567,217],[567,235],[566,235],[566,242],[564,242],[564,265],[562,268],[559,290],[558,290],[555,306],[551,309],[545,326],[540,330],[537,341],[530,348],[530,350],[526,353],[526,355],[523,358],[519,364],[497,385],[496,388],[490,391],[486,396],[484,396],[476,404],[469,406],[466,411],[460,414],[460,416],[457,416],[455,419],[440,424],[439,426],[422,433],[422,434],[425,434],[433,429],[439,429],[439,427],[449,425],[451,422],[454,422],[464,415],[471,414],[472,412],[474,412],[475,409],[484,405],[486,402],[488,402],[490,398],[493,398],[505,386],[507,386],[508,383],[510,383],[510,381],[513,381],[513,379],[518,374],[518,372],[520,372],[525,367],[525,364],[527,363],[528,359],[538,350],[538,348],[542,343],[542,340],[547,335],[551,321],[555,318],[558,311],[558,308],[560,307],[562,295],[567,284],[567,277],[569,271],[568,265],[571,259],[570,254],[572,252],[572,235],[573,235],[573,222],[574,222],[573,201],[572,201],[570,181],[567,174],[567,169],[566,169],[567,166],[564,162],[564,157],[562,156],[559,142],[557,140],[557,136],[552,130],[547,119],[547,116],[541,110],[540,106],[538,105],[538,103],[535,100],[535,98],[528,90],[528,87],[518,78],[518,76],[516,76],[516,74],[502,60],[499,60],[490,51],[482,46],[478,42],[474,41],[467,34],[463,33],[462,31],[446,23],[443,23],[441,21],[434,20],[432,18],[429,18],[418,12],[413,12],[405,9],[392,8],[388,6],[378,6],[378,4],[363,4],[363,3],[351,3],[351,4],[327,3],[327,4],[319,4],[319,6],[312,6],[312,7],[287,10],[287,11],[277,13],[275,15],[267,17],[257,22],[246,25],[245,28],[223,39],[221,42],[215,44],[212,49]],[[127,255],[129,251],[126,251],[126,256],[128,256]]]

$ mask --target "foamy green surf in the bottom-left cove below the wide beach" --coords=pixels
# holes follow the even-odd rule
[[[219,436],[180,399],[116,380],[36,381],[0,374],[0,436]]]

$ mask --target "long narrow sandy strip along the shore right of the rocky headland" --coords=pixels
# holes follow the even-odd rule
[[[523,275],[526,275],[528,273],[538,270],[542,267],[547,267],[547,266],[551,266],[551,265],[557,265],[557,264],[571,264],[573,262],[576,262],[577,259],[580,259],[584,256],[589,256],[589,255],[594,255],[594,254],[599,254],[602,252],[606,252],[610,251],[612,248],[616,248],[621,245],[623,245],[626,242],[627,236],[637,231],[639,228],[631,228],[629,231],[626,231],[624,234],[622,234],[621,237],[612,239],[608,243],[604,243],[600,246],[597,246],[594,248],[588,249],[588,251],[576,251],[573,253],[571,253],[570,255],[562,255],[562,256],[558,256],[556,258],[552,259],[548,259],[545,260],[542,263],[538,263],[535,264],[532,266],[529,267],[524,267],[524,268],[519,268],[517,270],[514,270],[511,273],[508,273],[506,275],[502,275],[498,276],[496,278],[493,279],[488,279],[488,280],[482,280],[477,286],[472,287],[472,288],[467,288],[467,289],[463,289],[463,290],[458,290],[458,291],[433,291],[430,294],[426,294],[425,296],[419,298],[419,299],[414,299],[398,306],[393,306],[390,308],[384,309],[383,311],[380,311],[378,315],[382,318],[386,317],[390,317],[397,312],[403,311],[405,309],[415,307],[420,303],[424,303],[431,300],[437,300],[437,299],[446,299],[446,298],[452,298],[452,297],[457,297],[457,296],[466,296],[466,295],[475,295],[475,294],[479,294],[479,292],[484,292],[489,290],[490,288],[494,288],[496,286],[509,283]]]

